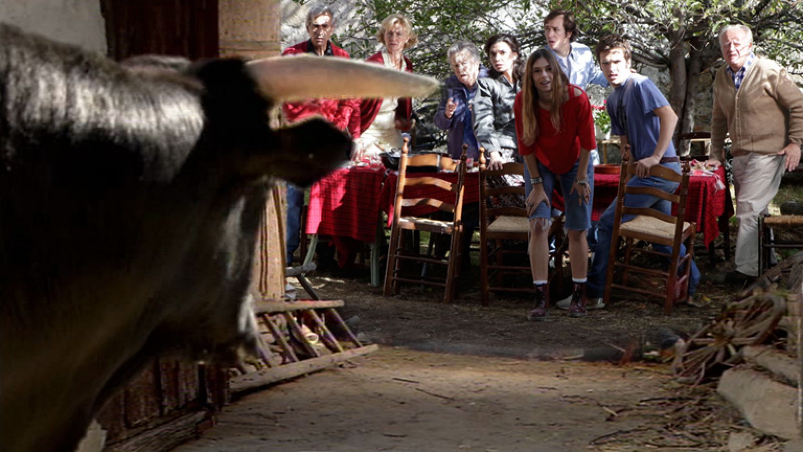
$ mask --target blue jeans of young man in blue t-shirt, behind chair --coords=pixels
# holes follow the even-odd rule
[[[668,163],[663,166],[680,172],[678,163]],[[629,187],[654,187],[666,193],[675,193],[678,185],[677,182],[667,181],[661,177],[632,177],[627,182]],[[608,256],[610,254],[611,235],[613,234],[613,215],[616,212],[616,202],[617,199],[611,202],[605,213],[600,217],[599,222],[597,222],[597,247],[591,268],[589,268],[588,282],[585,284],[586,294],[589,298],[598,298],[605,295],[605,276],[608,271]],[[628,194],[625,197],[625,206],[652,207],[665,214],[671,214],[672,212],[671,202],[650,194]],[[633,218],[635,218],[634,215],[623,215],[622,222],[629,222]],[[653,249],[666,254],[671,254],[672,252],[670,246],[659,245],[658,243],[653,243]],[[680,255],[685,254],[686,246],[681,244]],[[691,296],[697,291],[697,284],[700,281],[700,272],[694,260],[691,261],[691,271],[689,273],[689,296]]]

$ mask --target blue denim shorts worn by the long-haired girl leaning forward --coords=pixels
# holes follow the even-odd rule
[[[589,161],[588,169],[586,169],[585,180],[589,181],[589,188],[591,189],[591,197],[589,202],[579,204],[578,200],[582,197],[577,191],[572,192],[572,185],[577,177],[577,167],[580,161],[576,161],[572,169],[568,173],[555,174],[552,173],[546,166],[538,162],[538,172],[541,178],[544,179],[544,193],[547,194],[550,205],[552,204],[552,190],[555,188],[556,180],[560,181],[560,190],[564,198],[565,210],[565,223],[566,230],[588,230],[591,228],[591,206],[594,198],[594,167]],[[527,166],[524,166],[524,189],[526,191],[525,199],[532,191],[532,184],[530,184],[530,173]],[[572,193],[570,193],[572,192]],[[552,218],[552,209],[547,207],[545,202],[541,202],[536,211],[530,215],[530,218]]]

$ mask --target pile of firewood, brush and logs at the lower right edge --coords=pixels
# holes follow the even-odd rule
[[[692,336],[675,360],[675,376],[694,385],[719,379],[717,392],[751,426],[801,438],[801,305],[803,253],[762,275]]]

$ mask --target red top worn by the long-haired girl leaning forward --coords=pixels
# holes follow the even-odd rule
[[[538,136],[532,145],[524,145],[524,126],[521,119],[522,93],[516,95],[513,103],[513,114],[516,116],[516,138],[519,140],[519,153],[523,156],[536,154],[541,165],[552,173],[565,174],[572,169],[580,157],[580,148],[597,149],[597,138],[594,136],[594,120],[591,116],[591,104],[585,92],[569,85],[569,100],[563,104],[563,123],[560,131],[552,126],[549,111],[538,108]],[[580,94],[576,95],[575,91]]]

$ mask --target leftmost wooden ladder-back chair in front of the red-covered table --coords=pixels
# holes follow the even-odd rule
[[[400,291],[399,283],[417,283],[444,287],[443,299],[450,303],[454,298],[454,281],[459,275],[460,266],[460,235],[463,233],[463,184],[466,180],[466,147],[463,147],[463,156],[459,161],[438,154],[423,154],[414,157],[408,156],[409,140],[402,146],[402,157],[399,161],[399,176],[396,187],[396,201],[393,205],[393,227],[390,232],[388,246],[388,262],[385,272],[385,296]],[[456,171],[456,182],[445,181],[439,177],[422,176],[407,177],[409,167],[437,167]],[[450,198],[451,202],[443,202],[435,197],[407,198],[405,190],[417,185],[428,185],[427,188],[442,193],[442,197]],[[440,220],[405,215],[404,209],[413,206],[431,206],[448,214],[449,219]],[[431,255],[422,255],[420,246],[414,243],[412,250],[406,250],[405,230],[418,232],[426,231],[430,234],[446,234],[450,236],[450,251],[442,259]],[[429,272],[412,274],[402,271],[402,261],[407,263],[418,262],[424,264],[440,264],[446,266],[446,279],[438,280]],[[430,274],[430,275],[428,275]]]

